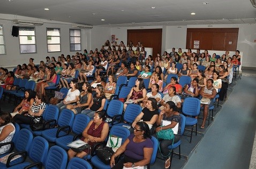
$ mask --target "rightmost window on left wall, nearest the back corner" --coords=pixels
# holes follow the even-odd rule
[[[81,51],[81,30],[70,29],[70,51]]]

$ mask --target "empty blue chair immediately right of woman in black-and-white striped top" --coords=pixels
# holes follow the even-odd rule
[[[57,124],[58,116],[59,116],[59,108],[56,105],[50,104],[43,111],[43,124],[45,126],[43,130],[32,131],[30,127],[29,127],[29,130],[31,130],[34,135],[42,135],[42,131],[48,129],[47,127],[48,124],[49,124],[49,128],[55,127],[55,125]]]

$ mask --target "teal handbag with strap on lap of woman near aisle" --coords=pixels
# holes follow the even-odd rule
[[[162,126],[160,126],[162,127]],[[157,137],[157,140],[158,139],[163,139],[163,140],[172,140],[172,144],[171,146],[173,147],[174,145],[174,131],[172,131],[171,128],[168,128],[167,130],[160,130],[159,132],[156,133],[156,137]],[[167,156],[170,156],[171,152],[169,152],[169,154],[167,156],[164,156],[161,152],[161,149],[160,149],[160,142],[158,141],[158,148],[159,148],[159,152],[160,154],[163,156],[163,157],[167,157]]]

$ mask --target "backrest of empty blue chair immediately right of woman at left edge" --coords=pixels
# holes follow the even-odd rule
[[[31,131],[26,128],[22,128],[19,132],[18,137],[14,143],[17,151],[27,151],[31,147],[31,143],[33,141],[33,134]]]

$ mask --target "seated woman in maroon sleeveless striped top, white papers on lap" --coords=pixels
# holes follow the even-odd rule
[[[106,114],[104,111],[95,112],[93,120],[88,123],[87,127],[82,132],[81,140],[87,142],[90,147],[93,147],[96,142],[104,141],[109,132],[109,125],[105,122],[105,120]],[[87,154],[90,154],[90,152],[88,152],[90,149],[91,148],[85,149],[82,152],[75,152],[71,148],[69,151],[67,151],[67,155],[69,156],[69,159],[75,156],[82,158]]]

